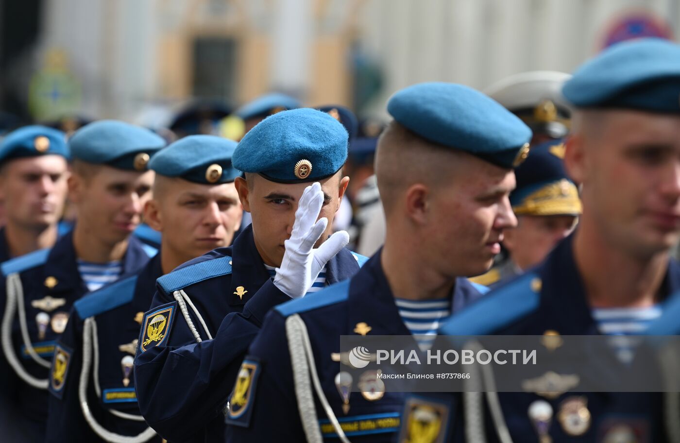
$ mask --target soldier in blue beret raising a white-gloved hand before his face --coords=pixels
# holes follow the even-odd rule
[[[265,314],[358,271],[364,257],[344,249],[347,233],[330,235],[346,157],[344,127],[308,108],[269,116],[239,142],[233,164],[245,178],[235,185],[252,225],[230,248],[159,278],[143,316],[135,389],[163,438],[222,440],[228,395]]]

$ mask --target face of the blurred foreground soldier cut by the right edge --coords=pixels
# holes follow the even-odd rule
[[[680,117],[598,115],[567,148],[569,172],[583,184],[583,220],[634,257],[667,250],[680,238]]]

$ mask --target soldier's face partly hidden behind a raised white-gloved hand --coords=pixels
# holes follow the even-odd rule
[[[270,266],[280,266],[286,248],[284,242],[290,238],[295,222],[295,211],[303,191],[311,183],[283,184],[270,182],[256,174],[249,175],[253,183],[237,179],[237,190],[243,208],[252,215],[255,244],[262,261]],[[350,179],[335,174],[320,180],[324,192],[324,205],[317,219],[328,219],[326,231],[322,233],[318,244],[321,244],[333,233],[333,218],[340,208],[340,201],[345,194]],[[317,246],[318,246],[317,244]]]

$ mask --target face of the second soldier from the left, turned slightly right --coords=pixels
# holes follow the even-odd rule
[[[70,197],[78,223],[95,231],[104,244],[125,240],[140,223],[151,198],[154,171],[135,172],[97,165],[90,173],[74,173],[69,180]]]

